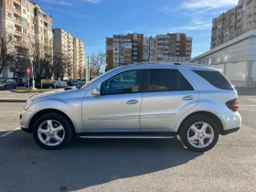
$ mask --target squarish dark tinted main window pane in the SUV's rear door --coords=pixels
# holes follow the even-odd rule
[[[177,70],[150,69],[148,91],[177,91]]]

